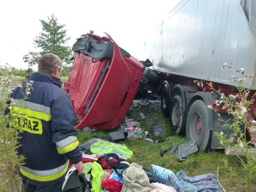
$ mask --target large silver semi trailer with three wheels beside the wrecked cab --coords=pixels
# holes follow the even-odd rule
[[[231,130],[222,127],[215,112],[207,108],[219,94],[207,88],[203,92],[205,87],[198,87],[194,80],[211,83],[228,95],[236,92],[236,84],[229,81],[232,73],[221,69],[224,63],[233,63],[233,71],[255,72],[256,1],[181,0],[146,39],[144,58],[153,63],[153,70],[146,69],[144,74],[159,86],[162,111],[170,116],[172,130],[195,139],[202,150],[220,147],[213,133],[229,135]],[[246,88],[251,87],[249,82]],[[252,89],[251,94],[256,84]],[[255,109],[256,104],[251,119],[256,117]],[[219,112],[223,119],[230,118],[225,111]]]

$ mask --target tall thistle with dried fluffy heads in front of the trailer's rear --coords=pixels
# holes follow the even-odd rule
[[[194,82],[202,88],[203,84],[206,83],[207,85],[203,91],[210,88],[220,95],[220,99],[212,105],[208,105],[208,108],[214,110],[218,119],[224,122],[223,126],[231,129],[233,133],[224,135],[223,132],[215,132],[214,134],[218,137],[222,148],[225,148],[225,152],[234,153],[241,161],[247,174],[247,181],[244,182],[247,183],[248,191],[250,191],[250,183],[256,180],[256,121],[251,115],[251,110],[254,110],[253,102],[256,92],[252,88],[246,87],[253,87],[256,80],[255,72],[248,76],[243,68],[233,71],[232,63],[230,65],[224,63],[221,69],[227,69],[232,74],[228,81],[233,82],[235,86],[233,93],[229,95],[222,93],[221,89],[216,90],[212,83],[206,81]],[[233,118],[224,120],[221,113],[217,112],[217,106]]]

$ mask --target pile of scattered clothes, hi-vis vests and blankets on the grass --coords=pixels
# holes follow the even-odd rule
[[[88,145],[90,145],[90,152]],[[82,145],[81,151],[83,152],[84,172],[80,176],[75,175],[73,173],[76,171],[75,167],[71,165],[62,187],[63,192],[224,191],[217,176],[213,174],[188,177],[181,170],[175,175],[171,170],[154,164],[151,165],[152,173],[137,163],[130,164],[126,160],[132,157],[132,152],[125,145],[93,139],[86,145]],[[91,154],[96,152],[103,153],[103,156],[92,158]],[[75,175],[78,182],[70,177],[71,174]]]

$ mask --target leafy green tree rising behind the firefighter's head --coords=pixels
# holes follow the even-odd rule
[[[48,17],[48,21],[39,20],[42,24],[43,32],[39,33],[34,40],[35,47],[41,49],[40,52],[33,56],[33,60],[37,61],[39,56],[46,53],[53,53],[62,60],[64,66],[72,63],[72,49],[66,43],[70,39],[66,37],[67,30],[64,30],[65,24],[59,24],[57,18],[52,14]]]

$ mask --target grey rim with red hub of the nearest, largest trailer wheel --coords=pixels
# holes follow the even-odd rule
[[[194,114],[192,115],[193,120],[192,124],[191,124],[191,137],[195,139],[196,142],[199,141],[201,134],[202,134],[202,120],[200,117],[200,114],[197,112],[194,112]]]

